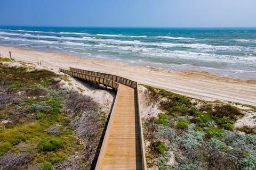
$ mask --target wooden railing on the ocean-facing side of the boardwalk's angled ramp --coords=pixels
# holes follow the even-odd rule
[[[90,74],[90,75],[94,75],[96,77],[105,78],[105,79],[108,79],[108,80],[115,81],[117,83],[124,84],[125,86],[129,86],[133,89],[137,89],[137,82],[126,79],[126,78],[119,77],[117,75],[99,73],[99,72],[95,72],[95,71],[88,71],[88,70],[82,70],[82,69],[75,69],[73,67],[69,67],[69,70],[73,71],[73,72]]]

